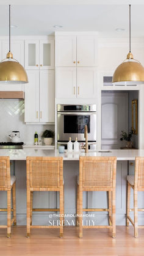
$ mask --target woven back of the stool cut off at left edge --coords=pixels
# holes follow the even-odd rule
[[[0,189],[7,190],[10,187],[10,158],[0,156]]]

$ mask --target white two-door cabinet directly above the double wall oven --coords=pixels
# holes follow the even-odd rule
[[[56,98],[95,98],[96,68],[57,67]]]

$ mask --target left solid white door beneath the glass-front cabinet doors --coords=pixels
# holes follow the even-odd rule
[[[29,83],[25,86],[24,121],[39,122],[39,71],[27,70]]]

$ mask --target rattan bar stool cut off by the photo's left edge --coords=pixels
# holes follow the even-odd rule
[[[0,209],[1,212],[7,211],[7,225],[0,225],[0,228],[7,229],[8,238],[11,236],[11,225],[16,225],[15,181],[16,177],[10,176],[9,156],[0,156],[0,191],[7,191],[7,208]],[[11,208],[11,191],[13,208]],[[12,220],[11,211],[13,211]]]

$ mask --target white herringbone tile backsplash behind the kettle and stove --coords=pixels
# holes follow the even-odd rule
[[[37,131],[39,139],[46,129],[54,130],[54,125],[26,125],[24,123],[24,100],[0,99],[0,142],[10,141],[11,131],[20,131],[21,141],[34,143],[34,133]]]

